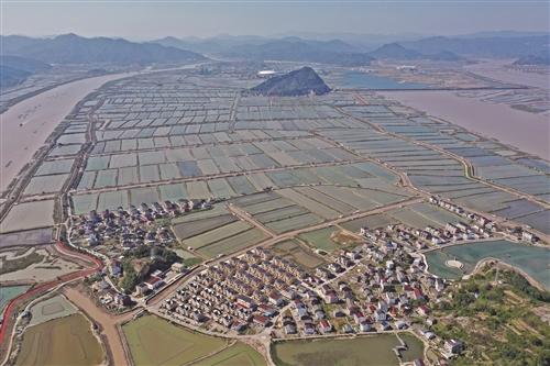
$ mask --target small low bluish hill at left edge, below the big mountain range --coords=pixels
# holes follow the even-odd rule
[[[0,88],[13,87],[23,82],[28,77],[51,69],[52,66],[19,56],[0,56]]]

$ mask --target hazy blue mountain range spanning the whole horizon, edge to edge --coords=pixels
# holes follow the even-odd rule
[[[375,48],[365,48],[359,36],[342,34],[348,42],[305,40],[296,36],[270,38],[264,36],[219,35],[211,38],[164,37],[145,43],[122,38],[81,37],[64,34],[52,38],[32,38],[19,35],[0,36],[3,56],[19,56],[46,64],[121,64],[150,65],[161,63],[197,63],[208,59],[204,54],[221,60],[282,60],[366,66],[374,59],[457,62],[475,57],[518,58],[518,63],[544,63],[549,53],[549,34],[513,31],[488,32],[459,36],[409,36],[404,41],[385,42]],[[366,35],[365,35],[366,37]],[[380,36],[380,41],[396,36]],[[413,38],[413,40],[411,40]],[[375,42],[369,36],[370,44]],[[535,56],[529,56],[535,55]],[[542,56],[541,56],[542,55]],[[529,56],[530,58],[526,58]],[[18,84],[24,68],[2,64],[4,85]]]

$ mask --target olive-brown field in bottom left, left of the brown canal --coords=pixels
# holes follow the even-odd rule
[[[30,326],[15,365],[99,365],[105,354],[90,322],[76,313]]]

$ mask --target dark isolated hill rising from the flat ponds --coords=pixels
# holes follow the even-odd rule
[[[330,88],[311,67],[302,67],[285,75],[274,76],[251,89],[262,96],[295,97],[324,95]]]

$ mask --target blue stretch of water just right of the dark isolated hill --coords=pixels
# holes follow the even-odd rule
[[[406,89],[429,89],[429,86],[417,82],[398,81],[387,76],[381,76],[373,73],[348,71],[342,75],[343,88],[363,88],[363,89],[385,89],[385,90],[406,90]]]

